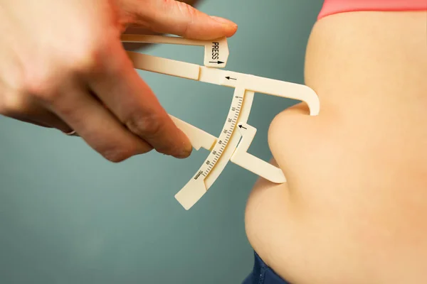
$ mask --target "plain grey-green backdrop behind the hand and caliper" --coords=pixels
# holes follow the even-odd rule
[[[204,0],[199,9],[239,25],[227,70],[303,82],[305,46],[320,0]],[[147,53],[202,64],[203,49]],[[141,72],[170,114],[218,136],[233,89]],[[255,94],[250,151],[268,160],[267,130],[288,99]],[[55,130],[0,118],[0,283],[241,283],[253,251],[244,208],[256,176],[229,164],[185,211],[174,194],[207,151],[102,159]]]

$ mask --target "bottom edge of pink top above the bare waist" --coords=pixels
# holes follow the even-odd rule
[[[427,0],[325,0],[317,19],[352,11],[427,11]]]

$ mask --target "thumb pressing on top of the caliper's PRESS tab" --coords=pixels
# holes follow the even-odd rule
[[[131,23],[147,27],[157,33],[180,35],[184,38],[209,40],[230,37],[237,31],[236,23],[206,13],[180,1],[132,1],[127,6]]]

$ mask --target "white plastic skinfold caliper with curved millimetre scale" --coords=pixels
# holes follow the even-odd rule
[[[283,183],[286,181],[285,175],[283,175],[280,168],[247,152],[255,136],[256,129],[246,124],[246,122],[248,121],[255,92],[300,100],[307,103],[311,116],[317,115],[320,103],[317,94],[310,87],[219,70],[218,68],[226,66],[228,60],[226,38],[218,40],[189,40],[163,35],[122,35],[122,42],[204,46],[204,66],[131,51],[128,51],[127,54],[136,69],[234,88],[230,111],[228,111],[226,122],[218,137],[171,116],[176,126],[189,137],[194,149],[205,148],[210,151],[203,165],[175,195],[176,200],[185,209],[190,209],[201,199],[209,190],[209,187],[214,184],[229,160],[271,182]]]

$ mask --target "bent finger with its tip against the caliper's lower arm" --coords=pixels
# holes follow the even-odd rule
[[[159,103],[137,71],[120,40],[111,43],[100,58],[102,69],[89,76],[90,88],[127,129],[156,151],[186,158],[192,146]]]

